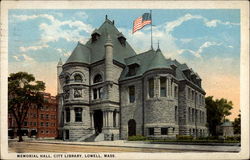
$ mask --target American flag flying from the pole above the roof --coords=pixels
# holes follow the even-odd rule
[[[141,17],[138,17],[136,18],[136,20],[134,20],[133,33],[142,29],[147,24],[151,23],[152,23],[151,14],[144,13]]]

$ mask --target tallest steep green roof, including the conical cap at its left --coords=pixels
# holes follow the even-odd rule
[[[114,60],[125,64],[124,58],[136,55],[135,51],[128,44],[128,42],[125,42],[124,46],[121,45],[120,41],[118,40],[118,37],[121,35],[121,33],[114,26],[113,22],[111,22],[109,19],[106,19],[105,22],[98,29],[95,29],[93,31],[93,33],[100,34],[100,37],[94,42],[92,42],[92,39],[89,39],[89,41],[85,45],[83,45],[84,47],[77,48],[77,45],[77,47],[75,48],[75,50],[77,51],[74,50],[72,52],[72,55],[69,57],[66,63],[78,61],[90,64],[104,59],[104,45],[106,43],[108,35],[110,35],[110,38],[113,43]]]

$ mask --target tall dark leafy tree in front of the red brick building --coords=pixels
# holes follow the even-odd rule
[[[32,105],[43,105],[44,90],[45,83],[35,81],[35,77],[27,72],[11,73],[8,77],[8,110],[16,120],[19,142],[23,141],[21,127],[28,110]]]

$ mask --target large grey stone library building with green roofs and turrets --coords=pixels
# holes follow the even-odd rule
[[[58,125],[65,140],[207,134],[198,74],[166,59],[159,46],[136,54],[107,16],[57,70]]]

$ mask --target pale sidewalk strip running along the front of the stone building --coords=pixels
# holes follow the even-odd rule
[[[100,141],[100,142],[69,142],[62,140],[28,140],[30,143],[89,145],[107,147],[154,148],[168,150],[182,150],[194,152],[239,152],[239,146],[211,146],[211,145],[180,145],[180,144],[147,144],[144,142],[129,142],[125,140]]]

